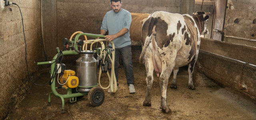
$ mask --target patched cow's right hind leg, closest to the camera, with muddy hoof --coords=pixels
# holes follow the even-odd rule
[[[166,98],[168,79],[171,73],[172,73],[172,69],[166,70],[166,68],[164,68],[159,77],[159,85],[160,85],[160,91],[161,91],[160,109],[162,109],[162,112],[165,112],[165,113],[171,112],[171,109],[168,107],[167,98]]]

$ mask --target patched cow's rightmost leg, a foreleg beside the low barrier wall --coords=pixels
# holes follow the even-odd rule
[[[196,64],[197,56],[193,58],[193,60],[188,65],[188,89],[196,90],[196,87],[194,87],[193,80],[192,80],[192,74],[194,72],[194,66]]]

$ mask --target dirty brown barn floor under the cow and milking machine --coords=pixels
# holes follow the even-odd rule
[[[75,70],[74,67],[68,69]],[[256,101],[243,94],[217,85],[197,86],[196,90],[189,90],[187,69],[180,68],[176,90],[170,89],[172,75],[169,79],[167,102],[172,110],[169,114],[163,113],[159,108],[160,88],[156,76],[151,90],[152,106],[142,106],[146,95],[146,70],[145,66],[134,64],[135,94],[129,94],[124,68],[121,66],[119,90],[116,93],[104,90],[105,100],[102,105],[92,106],[88,96],[73,103],[65,99],[66,112],[62,114],[60,98],[52,95],[51,106],[47,105],[50,85],[31,84],[30,93],[6,120],[256,120]],[[49,70],[43,70],[35,82],[44,84],[49,79]],[[104,87],[107,86],[106,74],[102,75],[101,83]],[[65,89],[58,89],[58,92],[66,94]]]

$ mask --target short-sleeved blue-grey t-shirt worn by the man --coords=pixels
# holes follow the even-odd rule
[[[122,9],[117,13],[111,10],[104,16],[100,30],[106,30],[109,35],[112,35],[118,33],[122,28],[127,28],[128,32],[126,32],[126,34],[112,40],[115,44],[115,48],[123,48],[131,44],[131,22],[132,16],[127,10]],[[112,44],[109,44],[109,46],[112,46]]]

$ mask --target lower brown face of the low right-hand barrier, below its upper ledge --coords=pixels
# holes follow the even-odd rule
[[[204,74],[223,87],[229,87],[256,99],[256,66],[218,54],[199,50],[193,80]]]

